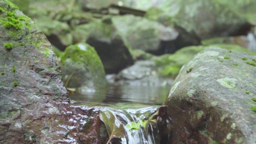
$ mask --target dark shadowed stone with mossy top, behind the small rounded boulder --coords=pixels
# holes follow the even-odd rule
[[[95,21],[94,31],[86,40],[86,43],[93,46],[97,51],[108,74],[118,73],[134,63],[125,41],[111,23],[109,18]]]

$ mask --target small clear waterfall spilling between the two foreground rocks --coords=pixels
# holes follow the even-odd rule
[[[170,144],[172,123],[165,106],[100,108],[109,133],[107,144]],[[161,133],[160,129],[170,129]]]

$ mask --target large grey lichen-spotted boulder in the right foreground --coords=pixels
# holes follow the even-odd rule
[[[165,103],[174,143],[256,143],[255,59],[212,46],[182,67]]]

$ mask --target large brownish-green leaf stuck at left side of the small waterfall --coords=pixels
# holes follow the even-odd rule
[[[109,141],[107,141],[107,144],[113,138],[124,138],[124,127],[118,120],[118,117],[116,117],[111,111],[101,111],[100,120],[104,122],[107,128],[107,133],[109,134]]]

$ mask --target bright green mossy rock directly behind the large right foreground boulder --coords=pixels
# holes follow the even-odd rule
[[[159,68],[159,75],[164,77],[175,78],[179,73],[179,69],[188,62],[196,53],[201,52],[205,48],[218,47],[228,49],[230,52],[246,52],[250,55],[256,55],[256,52],[247,50],[238,45],[218,44],[209,46],[189,46],[177,50],[174,54],[167,54],[159,56],[155,59],[156,66]],[[221,61],[221,59],[220,59]]]

